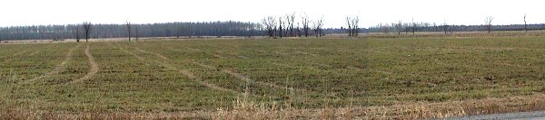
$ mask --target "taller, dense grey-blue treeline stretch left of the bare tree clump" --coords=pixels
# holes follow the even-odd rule
[[[180,37],[180,36],[256,36],[263,35],[260,23],[204,22],[204,23],[146,23],[92,24],[91,38]],[[128,31],[130,30],[130,31]],[[33,25],[0,27],[0,40],[62,40],[84,36],[84,25]],[[79,34],[79,36],[78,36]]]

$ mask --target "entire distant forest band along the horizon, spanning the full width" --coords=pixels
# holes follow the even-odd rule
[[[304,24],[303,24],[304,25]],[[124,38],[128,37],[129,31],[133,38],[138,37],[198,37],[198,36],[267,36],[282,37],[280,26],[271,26],[264,23],[249,22],[204,22],[204,23],[147,23],[147,24],[93,24],[90,38]],[[272,28],[274,27],[274,28]],[[311,36],[328,35],[333,33],[349,33],[349,28],[321,28],[320,32],[312,32],[313,27],[307,25],[292,27],[299,35],[288,33],[285,28],[285,36]],[[357,26],[352,28],[358,28]],[[513,25],[491,25],[492,31],[523,31],[523,30],[545,30],[545,24],[513,24]],[[525,29],[526,28],[526,29]],[[269,30],[270,29],[270,30]],[[276,29],[280,32],[274,34]],[[306,29],[306,30],[304,30]],[[390,23],[378,24],[370,28],[358,28],[359,32],[474,32],[487,31],[487,25],[444,25],[435,23]],[[127,31],[129,30],[129,31]],[[75,39],[83,36],[84,28],[81,24],[67,25],[32,25],[32,26],[10,26],[0,27],[1,40],[64,40]],[[308,35],[302,32],[310,31]],[[323,31],[323,32],[322,32]],[[354,30],[352,30],[354,31]],[[350,32],[352,32],[350,31]],[[273,33],[272,33],[273,32]],[[77,35],[79,34],[79,36]],[[292,35],[288,35],[292,34]],[[317,35],[319,36],[319,35]]]

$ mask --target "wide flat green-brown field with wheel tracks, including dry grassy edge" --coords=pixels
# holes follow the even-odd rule
[[[0,44],[0,118],[412,119],[542,110],[543,40]]]

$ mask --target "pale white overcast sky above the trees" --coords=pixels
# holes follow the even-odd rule
[[[363,27],[399,20],[427,23],[545,23],[540,0],[3,0],[0,26],[82,23],[243,21],[290,13],[323,17],[326,27],[344,26],[348,15]]]

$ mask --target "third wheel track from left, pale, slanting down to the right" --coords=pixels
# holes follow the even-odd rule
[[[138,56],[137,54],[131,52],[131,51],[126,51],[124,50],[124,48],[118,44],[117,42],[115,42],[115,44],[117,45],[117,48],[121,51],[124,51],[125,53],[128,53],[128,54],[131,54],[134,56],[134,58],[138,59],[138,60],[143,60],[143,61],[146,61],[146,62],[154,62],[154,63],[157,63],[161,66],[163,66],[164,68],[166,69],[171,69],[171,70],[175,70],[175,71],[178,71],[180,73],[182,73],[184,76],[187,76],[187,78],[190,78],[190,79],[193,79],[194,81],[198,82],[199,84],[202,84],[203,86],[207,87],[207,88],[213,88],[213,89],[216,89],[216,90],[220,90],[220,91],[224,91],[224,92],[231,92],[231,93],[234,93],[234,94],[241,94],[240,92],[237,92],[233,89],[229,89],[229,88],[222,88],[222,87],[219,87],[219,86],[216,86],[214,84],[211,84],[211,83],[207,83],[207,82],[204,82],[202,78],[199,78],[197,76],[195,76],[191,71],[187,70],[187,69],[176,69],[175,67],[173,67],[172,65],[169,65],[169,64],[166,64],[166,63],[163,63],[163,62],[160,62],[160,61],[151,61],[151,60],[145,60],[144,58]],[[110,44],[111,45],[111,44]],[[114,47],[114,46],[112,46]],[[158,53],[154,53],[152,51],[144,51],[142,49],[138,49],[135,47],[135,49],[137,49],[137,51],[141,51],[141,52],[145,52],[145,53],[148,53],[148,54],[154,54],[156,56],[163,56],[161,54],[158,54]],[[159,57],[163,60],[170,60],[166,57]]]

